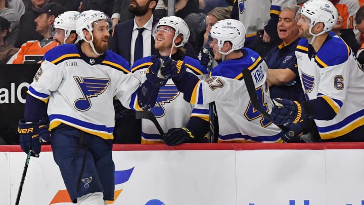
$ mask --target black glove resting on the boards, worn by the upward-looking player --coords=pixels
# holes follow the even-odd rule
[[[187,128],[172,128],[163,135],[163,141],[168,146],[192,142],[195,139],[192,132]]]

